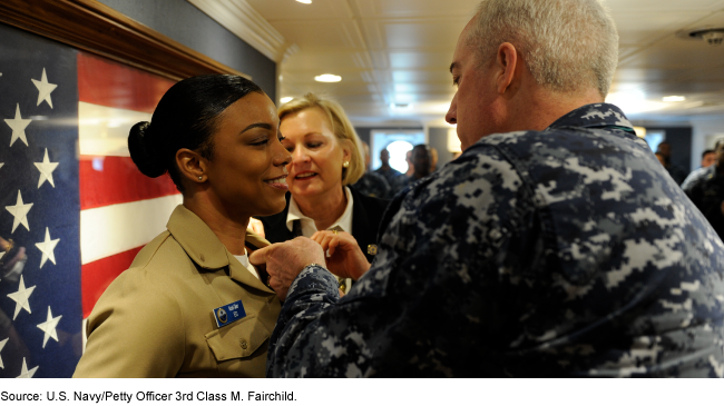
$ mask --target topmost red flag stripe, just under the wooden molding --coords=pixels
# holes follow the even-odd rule
[[[78,100],[134,111],[154,112],[175,82],[105,58],[78,52]]]

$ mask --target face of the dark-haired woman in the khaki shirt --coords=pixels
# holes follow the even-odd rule
[[[274,102],[252,92],[219,116],[206,175],[212,199],[229,216],[270,216],[286,205],[286,164]]]

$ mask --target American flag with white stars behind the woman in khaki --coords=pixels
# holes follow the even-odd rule
[[[7,26],[0,36],[0,238],[13,246],[0,252],[0,377],[70,377],[84,319],[180,202],[126,146],[173,82]]]

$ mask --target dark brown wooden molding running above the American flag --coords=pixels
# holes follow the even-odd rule
[[[2,0],[0,22],[173,80],[207,73],[251,79],[95,0]]]

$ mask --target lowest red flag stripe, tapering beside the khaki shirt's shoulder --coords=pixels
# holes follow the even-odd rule
[[[143,247],[98,259],[80,268],[80,287],[82,291],[82,317],[88,318],[94,306],[118,275],[130,267]]]

